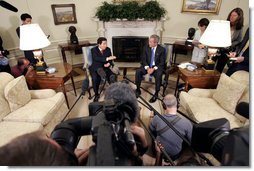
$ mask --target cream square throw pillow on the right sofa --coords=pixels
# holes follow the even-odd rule
[[[213,94],[213,99],[217,101],[223,109],[234,114],[236,105],[244,89],[245,85],[222,73],[216,91]]]

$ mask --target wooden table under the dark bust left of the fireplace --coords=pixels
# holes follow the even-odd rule
[[[65,51],[74,51],[76,49],[81,49],[82,47],[92,45],[96,45],[96,43],[90,43],[89,41],[80,41],[77,45],[70,43],[61,43],[58,46],[61,49],[63,62],[67,63]]]

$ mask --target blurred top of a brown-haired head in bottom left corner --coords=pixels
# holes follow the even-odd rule
[[[75,166],[72,156],[42,131],[27,133],[0,147],[1,166]]]

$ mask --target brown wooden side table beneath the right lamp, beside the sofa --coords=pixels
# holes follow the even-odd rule
[[[178,90],[179,79],[185,82],[185,91],[188,91],[189,85],[193,88],[216,88],[220,79],[220,72],[217,70],[205,70],[204,68],[198,68],[194,71],[179,68],[175,96]]]

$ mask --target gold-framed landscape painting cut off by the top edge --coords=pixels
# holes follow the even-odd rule
[[[218,14],[221,0],[183,0],[182,12]]]

